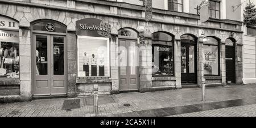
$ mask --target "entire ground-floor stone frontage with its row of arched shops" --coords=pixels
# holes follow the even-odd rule
[[[204,78],[242,83],[240,22],[167,10],[148,20],[143,4],[31,2],[0,2],[9,10],[0,16],[0,100],[92,95],[94,84],[109,95],[200,87]]]

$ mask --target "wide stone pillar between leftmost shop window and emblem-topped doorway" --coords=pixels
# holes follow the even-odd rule
[[[31,101],[31,33],[29,28],[19,29],[19,73],[20,73],[20,101]]]

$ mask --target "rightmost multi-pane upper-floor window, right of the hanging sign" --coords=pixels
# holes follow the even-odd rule
[[[220,19],[220,1],[209,0],[209,16]]]

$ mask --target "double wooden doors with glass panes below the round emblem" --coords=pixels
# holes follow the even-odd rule
[[[33,95],[67,94],[65,36],[33,35]]]

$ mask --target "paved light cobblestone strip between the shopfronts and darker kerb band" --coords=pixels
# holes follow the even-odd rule
[[[148,109],[213,103],[217,101],[245,99],[248,97],[255,99],[256,85],[210,87],[206,90],[207,101],[205,102],[201,101],[200,88],[184,88],[146,93],[121,93],[108,97],[110,97],[109,99],[112,99],[113,102],[99,104],[99,114],[97,114],[97,116],[114,116]],[[93,114],[93,106],[87,103],[89,100],[85,100],[86,98],[88,97],[75,98],[80,99],[80,108],[71,110],[62,109],[65,100],[72,100],[68,98],[32,100],[27,103],[0,104],[0,116],[95,116]],[[126,103],[130,104],[130,106],[123,106],[123,104]]]

